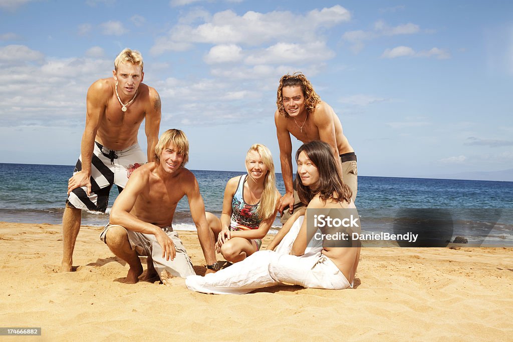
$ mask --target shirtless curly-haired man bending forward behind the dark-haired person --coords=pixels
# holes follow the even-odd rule
[[[342,131],[342,124],[337,114],[321,98],[302,73],[284,75],[278,86],[274,113],[274,124],[280,146],[280,162],[282,166],[285,195],[280,199],[278,210],[282,214],[282,224],[286,222],[295,207],[301,206],[292,183],[292,142],[290,134],[303,143],[312,140],[322,140],[331,147],[336,160],[338,172],[344,183],[352,191],[351,200],[354,202],[358,191],[358,171],[356,154],[349,145]],[[288,211],[284,212],[286,207]]]

